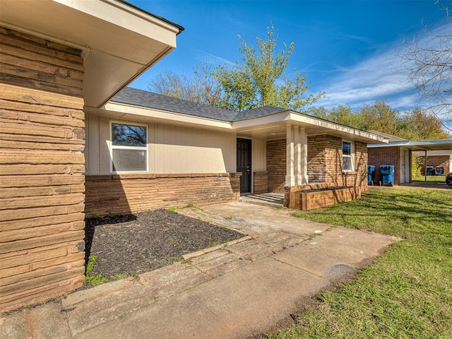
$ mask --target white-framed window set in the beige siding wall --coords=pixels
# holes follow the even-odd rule
[[[148,170],[146,126],[112,123],[112,172]]]

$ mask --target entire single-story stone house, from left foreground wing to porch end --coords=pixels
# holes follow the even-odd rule
[[[0,2],[0,312],[81,287],[85,215],[366,188],[374,133],[127,88],[182,30],[121,0]]]

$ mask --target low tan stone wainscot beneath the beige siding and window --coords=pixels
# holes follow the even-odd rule
[[[236,201],[240,174],[121,174],[86,177],[87,217]]]

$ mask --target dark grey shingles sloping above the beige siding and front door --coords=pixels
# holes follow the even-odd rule
[[[196,102],[130,87],[121,90],[111,101],[228,122],[266,117],[271,114],[287,111],[287,109],[281,107],[264,106],[249,109],[244,112],[233,112],[229,109],[201,105]]]

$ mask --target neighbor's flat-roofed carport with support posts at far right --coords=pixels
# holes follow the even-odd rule
[[[396,164],[386,164],[386,165],[396,165],[396,172],[398,175],[398,180],[396,184],[407,184],[412,182],[411,178],[411,152],[413,150],[424,151],[425,164],[424,168],[427,168],[427,152],[429,150],[452,150],[452,139],[442,139],[442,140],[426,140],[426,141],[390,141],[386,144],[372,143],[368,144],[369,149],[369,165],[374,165],[371,162],[372,159],[371,150],[380,150],[379,158],[384,157],[384,155],[396,154]],[[375,160],[376,161],[376,160]],[[388,160],[391,161],[391,160]],[[427,182],[427,171],[424,171],[424,181]]]

